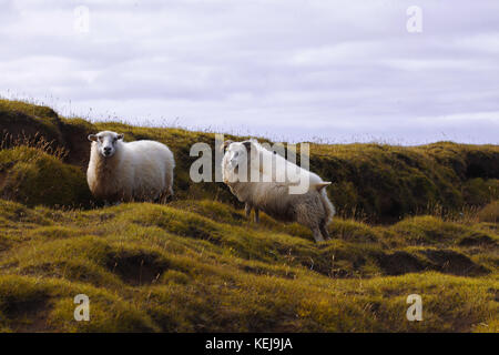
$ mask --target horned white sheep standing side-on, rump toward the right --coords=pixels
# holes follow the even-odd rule
[[[231,192],[245,203],[246,216],[254,209],[255,222],[258,222],[258,211],[262,210],[276,220],[308,226],[316,242],[329,239],[327,224],[335,209],[324,187],[330,182],[323,181],[317,174],[274,154],[253,140],[226,141],[224,148],[222,176]],[[265,160],[272,161],[266,165],[271,169],[264,168],[262,162]],[[245,173],[241,173],[244,164],[247,164]],[[279,171],[286,172],[284,179]],[[246,178],[241,179],[241,175]],[[253,176],[258,178],[255,181]],[[308,179],[308,186],[302,194],[292,194],[289,186],[296,185],[297,178]]]

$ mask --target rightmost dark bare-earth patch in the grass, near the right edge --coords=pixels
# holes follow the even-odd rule
[[[468,256],[450,250],[421,251],[432,264],[434,270],[459,276],[478,276],[490,273],[482,265],[473,263]]]

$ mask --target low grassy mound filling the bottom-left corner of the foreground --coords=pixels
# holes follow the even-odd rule
[[[91,322],[74,321],[74,296],[92,300]],[[43,282],[29,276],[0,276],[0,314],[11,332],[151,332],[150,317],[133,304],[88,284],[58,278]]]

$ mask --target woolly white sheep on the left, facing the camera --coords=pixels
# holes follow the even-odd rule
[[[173,195],[175,162],[170,149],[155,141],[124,142],[111,131],[90,134],[86,181],[105,202],[161,201]]]

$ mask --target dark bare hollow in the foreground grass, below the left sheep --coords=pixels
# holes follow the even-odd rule
[[[106,267],[118,274],[120,278],[132,286],[155,283],[164,271],[169,268],[167,262],[160,255],[149,252],[113,253],[109,255]]]

